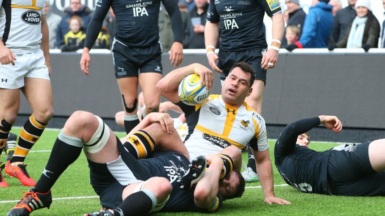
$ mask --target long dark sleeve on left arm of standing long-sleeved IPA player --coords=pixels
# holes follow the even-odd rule
[[[112,0],[98,0],[95,6],[94,15],[87,27],[87,36],[84,47],[91,49],[102,28],[103,20],[110,9]]]

